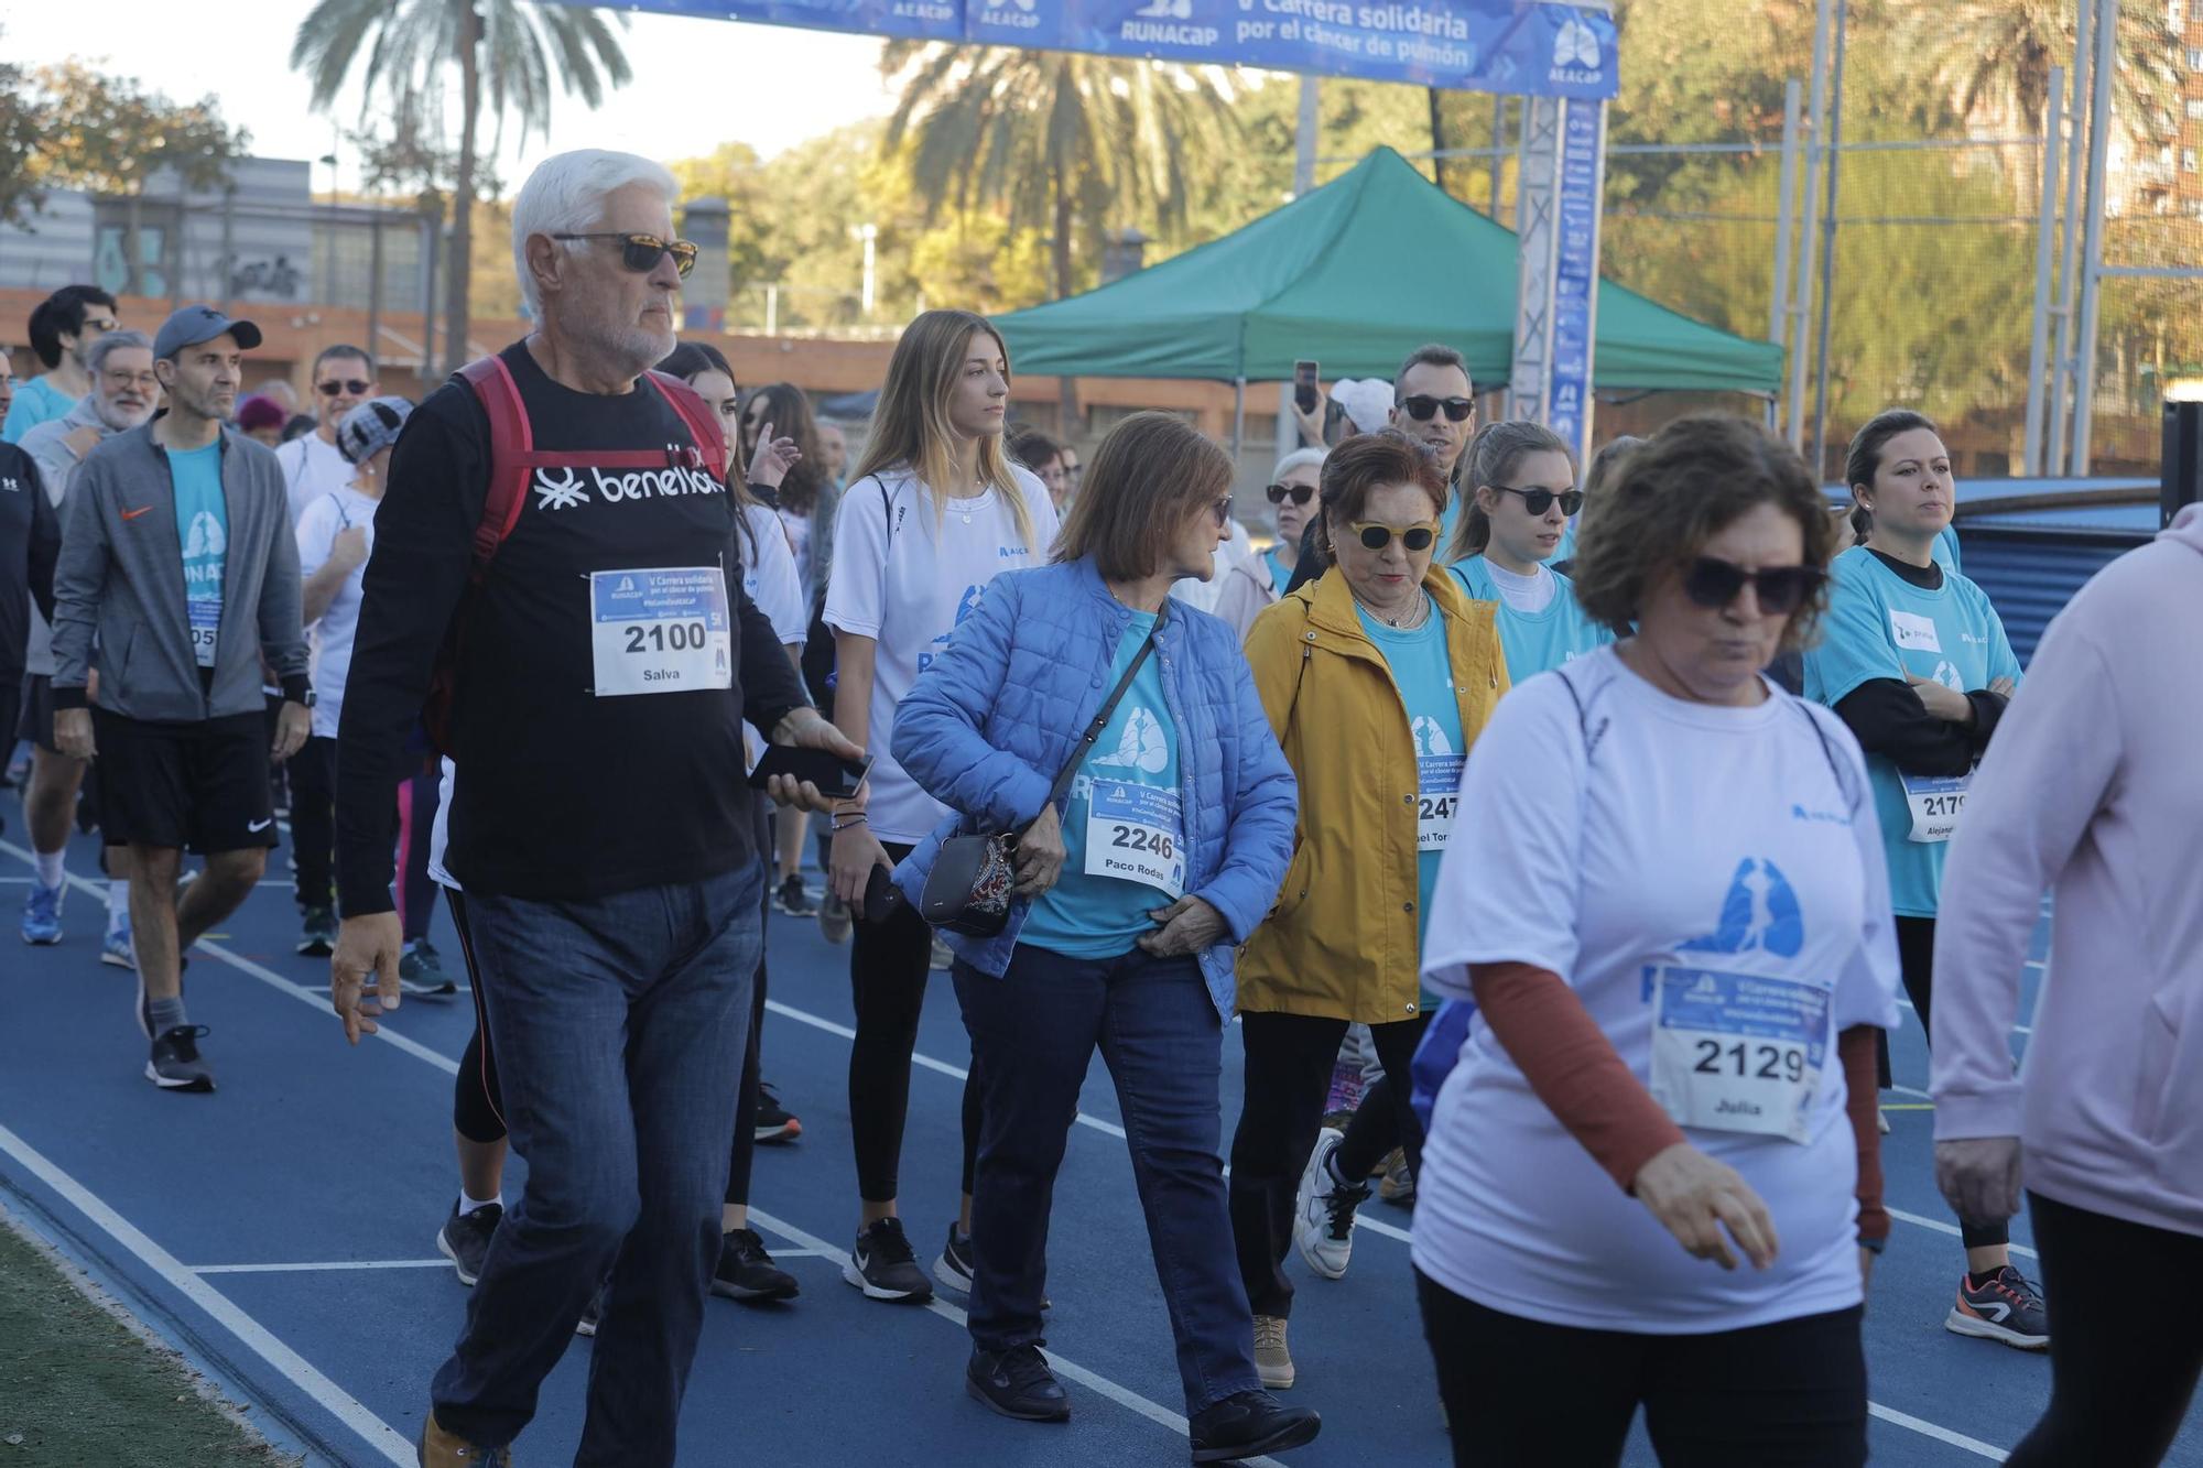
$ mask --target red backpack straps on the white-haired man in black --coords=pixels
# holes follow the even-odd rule
[[[421,723],[443,754],[452,752],[452,697],[458,648],[467,630],[467,604],[480,591],[482,578],[489,575],[489,562],[496,560],[498,547],[504,544],[504,538],[513,533],[513,525],[520,522],[520,511],[529,503],[529,481],[535,478],[535,469],[663,469],[681,465],[703,469],[712,478],[725,478],[723,465],[727,463],[727,430],[720,425],[718,414],[712,412],[709,403],[692,386],[665,373],[643,373],[641,381],[656,388],[672,410],[681,414],[681,423],[687,425],[694,447],[540,450],[535,447],[535,430],[529,423],[527,403],[520,401],[520,384],[513,381],[504,357],[478,357],[458,368],[458,377],[474,388],[474,399],[489,414],[489,496],[482,500],[482,522],[474,527],[474,566],[467,571],[467,595],[452,617],[443,650],[436,652],[436,670],[430,677],[427,701],[421,708]]]

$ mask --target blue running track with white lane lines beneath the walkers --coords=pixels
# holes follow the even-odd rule
[[[452,1073],[471,1029],[465,994],[408,1001],[381,1040],[346,1049],[326,961],[291,952],[295,913],[278,851],[269,882],[192,963],[192,1018],[214,1029],[205,1051],[220,1091],[159,1093],[139,1076],[132,979],[97,963],[104,888],[93,844],[79,840],[68,855],[66,939],[33,950],[13,935],[29,875],[20,818],[9,831],[0,1206],[29,1217],[249,1402],[278,1444],[311,1464],[412,1464],[427,1378],[465,1309],[465,1289],[434,1248],[456,1192]],[[456,963],[443,915],[438,948]],[[804,1137],[758,1151],[751,1221],[804,1296],[778,1309],[709,1303],[681,1461],[1183,1464],[1168,1320],[1106,1069],[1088,1073],[1049,1245],[1049,1356],[1071,1386],[1073,1422],[1007,1422],[963,1393],[967,1338],[947,1296],[930,1309],[890,1307],[842,1283],[839,1250],[855,1230],[846,950],[828,948],[815,921],[775,915],[769,954],[764,1073],[802,1115]],[[1910,1016],[1895,1047],[1897,1078],[1912,1091],[1888,1098],[1888,1199],[1899,1223],[1866,1316],[1875,1461],[1996,1461],[2040,1411],[2049,1371],[2040,1358],[1941,1327],[1961,1256],[1934,1192],[1917,1091],[1928,1054]],[[956,1208],[969,1056],[945,983],[927,1003],[919,1056],[903,1217],[930,1265]],[[1225,1137],[1238,1084],[1238,1045],[1227,1038]],[[520,1177],[516,1159],[507,1197]],[[1295,1274],[1291,1400],[1324,1411],[1324,1437],[1289,1461],[1445,1464],[1408,1274],[1408,1215],[1372,1199],[1364,1221],[1344,1281]],[[2027,1239],[2025,1221],[2016,1237]],[[571,1461],[588,1353],[577,1340],[544,1384],[542,1413],[518,1444],[522,1461]],[[1628,1461],[1654,1461],[1641,1437]],[[2194,1413],[2168,1461],[2203,1466]]]

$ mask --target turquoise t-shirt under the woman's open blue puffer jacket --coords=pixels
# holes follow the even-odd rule
[[[1132,663],[1154,617],[1132,613],[1104,688]],[[1073,959],[1130,952],[1185,890],[1185,809],[1179,725],[1163,699],[1154,652],[1102,725],[1064,807],[1064,871],[1018,930],[1020,943]]]

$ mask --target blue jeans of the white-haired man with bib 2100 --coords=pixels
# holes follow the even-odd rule
[[[520,1201],[489,1241],[436,1420],[504,1446],[610,1276],[575,1464],[674,1461],[718,1265],[764,868],[588,902],[454,902],[489,1012]]]

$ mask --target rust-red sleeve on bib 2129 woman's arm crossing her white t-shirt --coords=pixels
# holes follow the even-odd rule
[[[1685,1140],[1560,974],[1472,963],[1469,987],[1538,1100],[1624,1192],[1646,1162]]]

